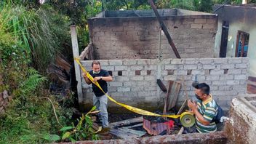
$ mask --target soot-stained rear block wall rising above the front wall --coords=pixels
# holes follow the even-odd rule
[[[213,57],[216,15],[162,17],[184,58]],[[156,17],[95,17],[89,35],[97,60],[175,58]],[[159,45],[161,48],[159,49]]]

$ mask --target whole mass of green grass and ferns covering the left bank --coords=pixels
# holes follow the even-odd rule
[[[0,92],[7,90],[13,99],[0,116],[0,143],[44,143],[45,135],[57,134],[61,128],[52,104],[45,97],[52,100],[61,124],[72,121],[72,109],[63,107],[67,102],[59,105],[44,89],[47,79],[30,67],[33,61],[37,68],[45,70],[47,63],[54,59],[58,52],[55,46],[60,44],[59,39],[53,39],[55,33],[51,28],[56,25],[49,19],[49,11],[8,2],[0,6],[0,73],[4,83]],[[63,22],[62,18],[56,21]],[[48,138],[57,140],[56,135]]]

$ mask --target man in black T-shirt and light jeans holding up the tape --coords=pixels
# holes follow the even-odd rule
[[[89,74],[94,78],[93,81],[97,81],[103,91],[107,93],[107,81],[112,81],[112,76],[109,75],[108,71],[101,69],[100,62],[92,62],[92,70],[89,71]],[[87,78],[85,73],[83,73],[83,76],[87,84],[92,84],[92,90],[95,93],[93,96],[93,105],[95,105],[97,110],[100,111],[100,121],[103,124],[103,128],[108,127],[108,97],[95,84],[93,84],[89,78]]]

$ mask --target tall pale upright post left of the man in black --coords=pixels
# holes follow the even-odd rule
[[[71,25],[71,40],[72,40],[73,57],[79,57],[79,43],[77,42],[76,25]],[[79,68],[79,64],[76,63],[75,60],[73,63],[75,64],[77,95],[79,97],[79,104],[80,104],[83,100],[83,92],[81,90],[81,71]]]

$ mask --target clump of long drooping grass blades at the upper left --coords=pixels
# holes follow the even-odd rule
[[[55,33],[49,27],[44,10],[27,10],[22,6],[6,5],[0,10],[1,29],[19,42],[27,56],[33,57],[35,68],[44,71],[59,51]]]

